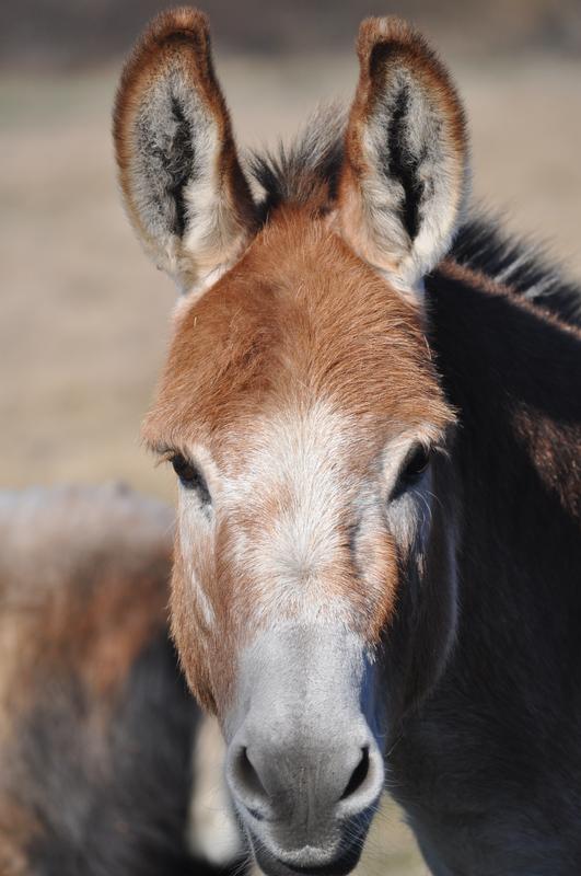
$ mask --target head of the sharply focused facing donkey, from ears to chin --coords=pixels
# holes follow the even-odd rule
[[[115,137],[128,212],[187,293],[144,435],[179,479],[172,624],[263,868],[346,873],[383,757],[454,632],[454,415],[421,279],[464,196],[462,111],[420,37],[363,23],[349,120],[256,207],[206,19],[159,18]]]

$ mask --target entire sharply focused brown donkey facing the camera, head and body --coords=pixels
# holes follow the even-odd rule
[[[121,76],[126,209],[182,290],[143,427],[179,484],[173,635],[268,876],[348,873],[385,783],[438,876],[570,876],[580,292],[467,215],[423,38],[357,48],[347,116],[248,170],[204,14]]]

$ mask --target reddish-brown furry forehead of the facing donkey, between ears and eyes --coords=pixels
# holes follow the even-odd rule
[[[368,440],[452,418],[417,310],[324,222],[286,216],[178,308],[144,431],[158,446],[210,441],[231,453],[251,436],[260,447],[266,422],[300,425],[305,411],[311,423],[318,412],[322,435]],[[335,412],[333,427],[323,411]]]

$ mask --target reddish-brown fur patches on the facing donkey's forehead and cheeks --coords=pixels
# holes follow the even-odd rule
[[[178,318],[144,436],[162,451],[187,452],[199,441],[223,472],[236,473],[247,452],[244,435],[257,417],[324,397],[358,424],[350,474],[361,477],[390,434],[426,423],[441,434],[453,420],[427,354],[414,307],[356,258],[325,220],[281,209],[239,265]],[[231,565],[230,532],[252,538],[268,531],[272,503],[284,503],[277,483],[265,485],[247,516],[220,525],[216,556],[204,561],[217,612],[212,633],[196,616],[177,546],[173,629],[188,679],[211,707],[217,695],[228,699],[241,637],[252,634],[255,601],[268,586]],[[390,623],[397,589],[394,546],[381,525],[375,539],[368,550],[376,562],[363,580],[347,546],[342,567],[335,564],[326,578],[329,599],[350,600],[353,626],[370,642]]]

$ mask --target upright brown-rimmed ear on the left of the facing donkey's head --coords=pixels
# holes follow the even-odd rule
[[[141,36],[117,91],[114,139],[146,250],[183,291],[204,287],[240,256],[255,207],[201,12],[164,12]]]

